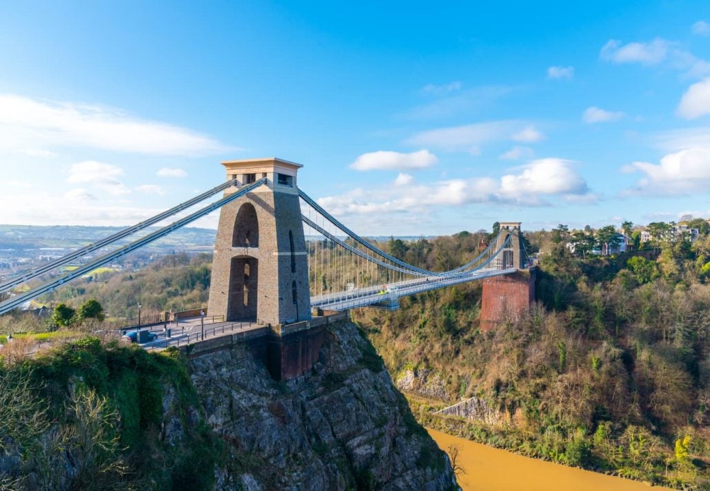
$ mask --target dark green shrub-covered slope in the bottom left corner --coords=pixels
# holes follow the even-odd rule
[[[0,405],[0,451],[19,459],[0,489],[207,490],[224,457],[190,415],[199,404],[177,351],[82,338],[4,363]],[[165,417],[179,424],[168,429]]]

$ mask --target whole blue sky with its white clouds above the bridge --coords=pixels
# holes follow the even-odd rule
[[[710,216],[706,2],[203,3],[0,5],[2,223],[132,224],[264,156],[364,234]]]

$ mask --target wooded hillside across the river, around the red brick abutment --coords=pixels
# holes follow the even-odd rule
[[[567,465],[710,486],[710,238],[589,258],[569,253],[564,226],[532,235],[537,304],[493,331],[478,329],[480,284],[354,313],[395,380],[420,377],[408,395],[417,419]],[[498,423],[432,414],[461,397]]]

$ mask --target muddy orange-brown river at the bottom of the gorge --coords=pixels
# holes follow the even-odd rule
[[[649,491],[645,482],[593,473],[566,465],[493,448],[474,441],[427,429],[446,450],[451,445],[459,448],[459,464],[466,471],[459,475],[464,491]],[[668,490],[667,487],[653,487]],[[670,491],[670,490],[668,490]]]

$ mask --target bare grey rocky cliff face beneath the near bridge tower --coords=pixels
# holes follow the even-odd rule
[[[273,382],[239,348],[194,358],[190,370],[204,417],[227,446],[215,489],[455,488],[444,453],[354,324],[329,326],[319,363],[299,380]]]

